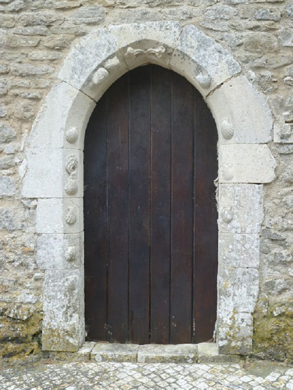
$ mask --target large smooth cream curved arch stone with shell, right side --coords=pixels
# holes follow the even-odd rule
[[[258,144],[270,141],[270,109],[247,78],[235,77],[207,98],[217,123],[220,144]]]

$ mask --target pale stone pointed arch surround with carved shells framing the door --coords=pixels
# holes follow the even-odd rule
[[[75,351],[85,339],[83,144],[90,114],[129,69],[156,63],[203,95],[219,133],[217,343],[221,353],[252,348],[258,296],[263,183],[274,179],[266,143],[272,118],[238,62],[194,25],[149,22],[97,29],[69,52],[48,93],[25,153],[24,198],[36,198],[37,263],[45,270],[42,343]]]

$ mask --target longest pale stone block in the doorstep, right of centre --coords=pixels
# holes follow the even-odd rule
[[[141,345],[138,349],[139,363],[196,363],[196,344]]]

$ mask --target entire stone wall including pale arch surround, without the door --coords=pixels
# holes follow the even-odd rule
[[[83,136],[148,62],[217,123],[219,352],[293,362],[292,0],[0,0],[0,356],[83,344]]]

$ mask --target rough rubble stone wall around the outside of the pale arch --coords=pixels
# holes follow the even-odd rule
[[[293,360],[293,1],[288,0],[0,0],[0,355],[40,349],[44,275],[35,257],[36,201],[20,195],[23,146],[35,116],[81,36],[110,24],[160,20],[193,23],[222,44],[270,105],[277,123],[270,143],[277,178],[264,185],[253,348],[261,357]]]

